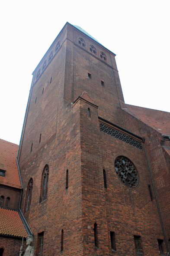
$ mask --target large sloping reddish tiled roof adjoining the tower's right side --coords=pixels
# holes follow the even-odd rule
[[[170,135],[170,113],[126,104],[127,112],[164,135]]]

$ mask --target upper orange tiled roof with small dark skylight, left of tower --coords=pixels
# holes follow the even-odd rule
[[[5,166],[5,177],[0,176],[0,184],[22,188],[16,162],[18,145],[0,139],[0,164]]]

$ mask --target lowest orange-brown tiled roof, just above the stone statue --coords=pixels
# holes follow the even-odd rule
[[[10,236],[23,235],[23,223],[15,210],[0,208],[0,234]],[[24,228],[24,237],[28,236]]]

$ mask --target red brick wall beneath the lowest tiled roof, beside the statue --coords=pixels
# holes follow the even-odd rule
[[[19,249],[22,246],[22,239],[0,236],[0,248],[4,249],[3,256],[19,256]],[[23,243],[26,249],[26,241]]]

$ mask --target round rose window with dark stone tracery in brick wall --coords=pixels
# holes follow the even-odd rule
[[[139,177],[135,165],[128,158],[119,156],[115,159],[115,171],[119,179],[128,187],[136,187]]]

